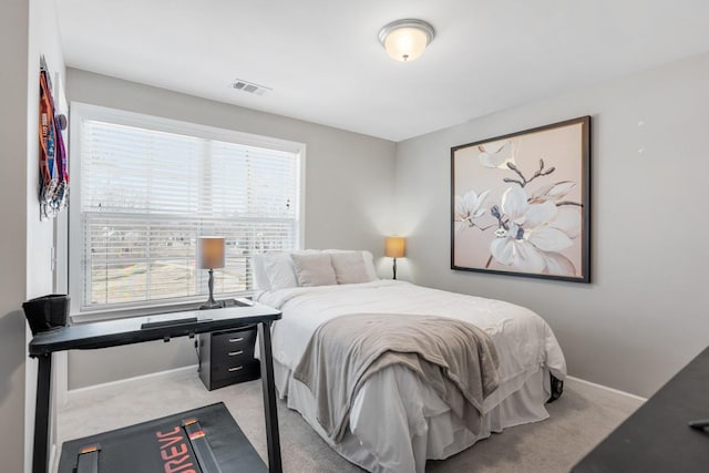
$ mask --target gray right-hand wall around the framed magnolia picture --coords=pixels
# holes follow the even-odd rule
[[[651,394],[709,345],[707,84],[702,54],[399,143],[401,277],[527,306],[572,376]],[[451,270],[450,148],[582,115],[593,116],[593,284]]]

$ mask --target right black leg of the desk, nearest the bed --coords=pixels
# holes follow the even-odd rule
[[[276,409],[276,383],[274,381],[274,354],[270,347],[270,321],[258,323],[258,341],[261,357],[261,385],[264,412],[266,413],[266,442],[268,443],[268,471],[281,473],[280,436]]]

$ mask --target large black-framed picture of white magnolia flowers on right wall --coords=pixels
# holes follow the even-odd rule
[[[590,282],[590,116],[451,148],[451,269]]]

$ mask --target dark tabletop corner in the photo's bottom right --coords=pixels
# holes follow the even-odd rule
[[[699,419],[709,419],[709,348],[613,431],[573,472],[708,472],[709,431],[687,425]]]

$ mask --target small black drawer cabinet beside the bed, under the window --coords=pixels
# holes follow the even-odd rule
[[[202,333],[198,342],[199,379],[209,391],[260,378],[259,361],[254,359],[255,325]]]

